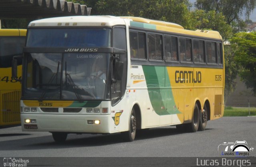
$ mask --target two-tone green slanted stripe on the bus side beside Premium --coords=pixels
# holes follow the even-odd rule
[[[170,115],[181,113],[175,107],[172,89],[160,89],[160,87],[170,87],[170,80],[166,67],[142,66],[148,95],[154,111],[158,115]]]

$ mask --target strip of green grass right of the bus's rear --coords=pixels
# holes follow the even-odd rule
[[[224,117],[237,116],[256,116],[256,107],[250,107],[250,115],[248,107],[225,107]]]

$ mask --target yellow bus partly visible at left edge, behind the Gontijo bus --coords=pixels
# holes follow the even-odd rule
[[[0,29],[0,126],[20,123],[21,84],[12,79],[12,58],[21,56],[26,41],[26,30]],[[21,79],[21,59],[18,78]]]

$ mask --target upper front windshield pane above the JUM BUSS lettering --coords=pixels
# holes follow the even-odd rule
[[[110,28],[29,29],[27,47],[110,47]]]

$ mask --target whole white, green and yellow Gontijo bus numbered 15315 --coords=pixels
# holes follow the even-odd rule
[[[224,59],[216,31],[137,17],[33,21],[24,48],[23,131],[124,133],[222,117]]]

